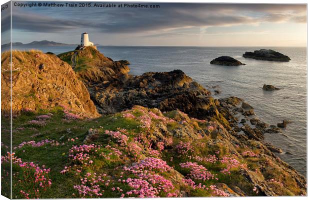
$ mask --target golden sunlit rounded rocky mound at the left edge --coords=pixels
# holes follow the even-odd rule
[[[9,93],[9,53],[2,53],[1,94]],[[3,98],[1,109],[10,109]],[[99,116],[87,88],[78,80],[71,66],[53,54],[41,51],[12,52],[12,110],[48,109],[60,105],[85,117]]]

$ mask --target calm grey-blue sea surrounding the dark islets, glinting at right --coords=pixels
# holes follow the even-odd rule
[[[37,49],[58,54],[74,47]],[[134,75],[181,69],[207,88],[218,85],[221,93],[214,95],[215,98],[231,95],[243,98],[254,107],[257,117],[268,124],[291,120],[282,133],[265,134],[265,140],[280,147],[283,153],[277,155],[306,176],[306,47],[268,47],[288,55],[289,62],[242,57],[245,51],[260,48],[98,46],[101,53],[113,60],[130,61],[130,71]],[[246,65],[231,67],[209,63],[220,55],[232,56]],[[263,84],[281,89],[263,91]]]

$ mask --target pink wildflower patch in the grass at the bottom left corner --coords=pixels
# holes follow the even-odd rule
[[[40,189],[46,190],[47,187],[51,185],[51,179],[48,178],[48,173],[50,171],[49,168],[45,168],[44,165],[39,167],[37,164],[33,162],[23,162],[20,158],[14,156],[15,153],[9,153],[5,156],[1,155],[1,163],[10,163],[16,167],[20,167],[22,170],[22,179],[19,179],[17,184],[20,184],[21,188],[26,190],[25,185],[27,187],[32,188],[32,190],[28,190],[25,192],[24,190],[20,190],[20,193],[24,198],[39,198]]]

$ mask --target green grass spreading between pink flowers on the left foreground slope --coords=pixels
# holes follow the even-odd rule
[[[87,134],[89,128],[99,128],[104,126],[104,129],[117,130],[118,127],[126,128],[130,130],[139,130],[137,124],[133,120],[127,120],[122,117],[115,116],[103,116],[92,120],[73,120],[71,122],[62,123],[63,112],[61,108],[55,107],[50,110],[53,113],[52,117],[48,120],[45,126],[35,127],[36,130],[29,128],[26,125],[27,121],[35,119],[35,116],[45,114],[47,110],[39,110],[38,113],[24,112],[18,117],[13,119],[13,130],[16,128],[24,127],[24,130],[18,130],[13,132],[13,143],[15,147],[22,141],[35,140],[40,141],[42,139],[54,139],[61,142],[65,142],[65,145],[51,146],[45,144],[40,147],[32,147],[30,145],[24,145],[20,149],[15,149],[15,155],[20,157],[22,161],[34,161],[39,165],[45,165],[50,168],[50,177],[52,177],[52,186],[50,189],[43,191],[41,194],[44,198],[67,198],[72,197],[72,193],[76,192],[73,189],[73,185],[76,184],[76,177],[70,175],[62,175],[60,171],[68,163],[68,150],[72,145],[82,144],[84,137]],[[61,125],[59,125],[61,124]],[[3,124],[4,125],[4,124]],[[8,124],[6,124],[8,125]],[[4,125],[5,126],[5,125]],[[6,133],[8,136],[9,132]],[[37,136],[30,137],[33,134]],[[3,135],[2,132],[2,136]],[[2,137],[2,138],[3,138]],[[67,142],[68,138],[78,137],[78,140],[74,142]],[[96,143],[104,144],[107,140],[103,139],[103,136],[96,140]],[[24,151],[24,152],[23,152]],[[105,151],[105,150],[104,150]],[[106,151],[107,152],[107,151]],[[2,150],[2,155],[5,151]],[[104,160],[96,160],[96,166],[114,168],[118,165],[118,162],[108,163]],[[17,197],[21,197],[18,188],[13,187],[13,193]],[[13,195],[14,197],[14,195]]]

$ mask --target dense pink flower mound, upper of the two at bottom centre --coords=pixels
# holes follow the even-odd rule
[[[134,162],[129,167],[124,167],[125,171],[130,171],[131,173],[139,173],[143,170],[152,170],[157,169],[158,171],[169,171],[171,167],[162,159],[155,158],[155,157],[146,157],[139,162]]]

